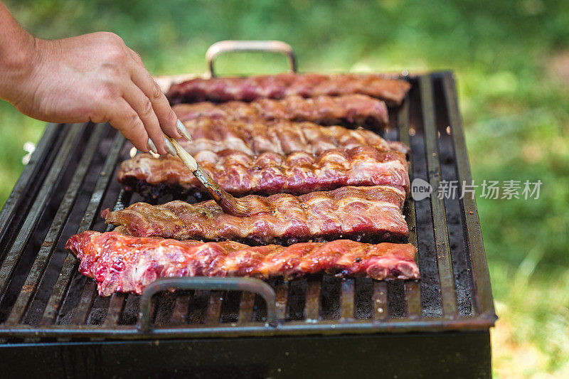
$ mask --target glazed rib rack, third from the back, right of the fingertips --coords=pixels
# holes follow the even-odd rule
[[[287,155],[294,151],[318,154],[321,151],[344,147],[373,146],[376,149],[409,151],[401,142],[388,142],[378,134],[366,129],[344,127],[323,127],[313,122],[280,121],[273,123],[220,122],[216,119],[202,119],[188,123],[192,142],[185,139],[180,143],[190,154],[198,151],[221,151],[232,149],[248,155],[265,151]]]

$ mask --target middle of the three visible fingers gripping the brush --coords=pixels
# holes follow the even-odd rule
[[[166,149],[164,149],[164,132],[162,132],[154,107],[152,107],[152,103],[147,95],[144,95],[144,92],[134,83],[129,83],[124,88],[123,97],[139,115],[148,136],[156,145],[158,154],[166,154]]]

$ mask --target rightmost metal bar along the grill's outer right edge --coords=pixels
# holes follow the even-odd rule
[[[454,85],[454,78],[451,73],[447,73],[443,76],[442,85],[447,102],[447,112],[449,114],[454,151],[466,151],[467,147],[464,139],[464,129],[462,127],[462,117],[460,117],[458,109],[457,89]],[[456,154],[455,158],[457,161],[459,185],[462,186],[462,181],[470,183],[472,181],[472,174],[470,173],[470,164],[466,154]],[[490,275],[486,262],[486,253],[484,252],[484,242],[482,242],[482,231],[480,230],[476,200],[470,196],[464,196],[462,199],[462,208],[463,218],[465,219],[468,231],[468,233],[465,234],[470,252],[470,262],[474,270],[474,275],[472,275],[474,294],[477,294],[476,301],[474,301],[477,306],[474,308],[477,308],[481,314],[495,316]]]

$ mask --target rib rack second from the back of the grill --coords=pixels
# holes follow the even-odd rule
[[[196,102],[175,105],[174,112],[183,122],[212,118],[225,122],[288,119],[325,125],[388,123],[385,102],[366,95],[323,95],[308,99],[294,95],[282,100],[257,99],[252,102],[230,101],[221,104]]]

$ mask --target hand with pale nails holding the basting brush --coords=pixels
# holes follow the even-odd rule
[[[151,138],[159,154],[166,154],[164,133],[189,137],[139,55],[116,34],[36,39],[29,56],[30,68],[6,99],[20,112],[47,122],[110,122],[141,151]]]

